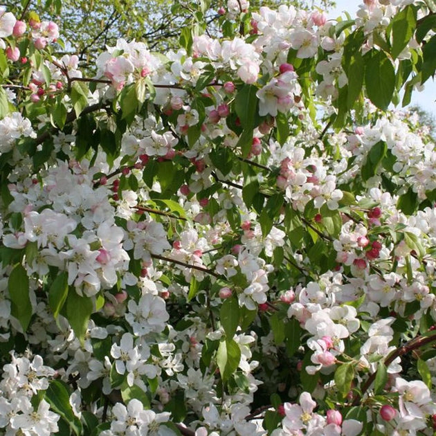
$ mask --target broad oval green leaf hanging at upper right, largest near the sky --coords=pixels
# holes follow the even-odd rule
[[[376,51],[375,48],[372,48],[364,59],[367,96],[376,107],[385,111],[394,93],[394,66],[383,51]]]

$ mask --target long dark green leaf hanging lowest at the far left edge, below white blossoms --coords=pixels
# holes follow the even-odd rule
[[[15,316],[23,331],[27,330],[32,318],[32,304],[29,297],[29,278],[24,266],[17,264],[10,273],[8,291],[11,304],[11,314]]]

